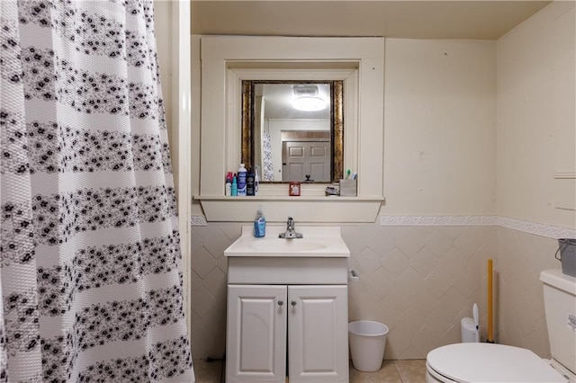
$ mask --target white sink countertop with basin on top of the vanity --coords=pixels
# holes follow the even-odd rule
[[[279,238],[285,226],[267,226],[264,238],[255,238],[254,227],[242,227],[242,235],[224,251],[226,256],[257,257],[348,257],[340,227],[298,227],[302,238]]]

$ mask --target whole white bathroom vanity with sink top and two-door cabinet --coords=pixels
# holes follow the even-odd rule
[[[347,382],[347,258],[340,227],[242,236],[228,257],[227,382]]]

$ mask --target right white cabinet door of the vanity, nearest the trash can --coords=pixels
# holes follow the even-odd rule
[[[347,286],[289,286],[288,301],[290,382],[347,382]]]

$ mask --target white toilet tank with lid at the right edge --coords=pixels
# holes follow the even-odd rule
[[[553,269],[541,272],[540,281],[544,282],[550,353],[576,374],[576,278]]]

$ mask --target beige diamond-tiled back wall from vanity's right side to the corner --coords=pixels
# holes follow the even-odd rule
[[[485,251],[484,243],[496,229],[377,227],[376,237],[391,245],[374,254],[383,259],[380,269],[365,263],[363,251],[352,254],[361,278],[350,285],[350,300],[364,300],[366,291],[375,291],[379,299],[368,305],[351,303],[350,319],[376,320],[390,327],[386,359],[421,359],[441,344],[458,342],[461,318],[472,316],[474,302],[482,306],[485,263],[496,257]],[[348,243],[348,232],[344,238]],[[387,281],[367,278],[365,268],[373,275],[385,272]]]

